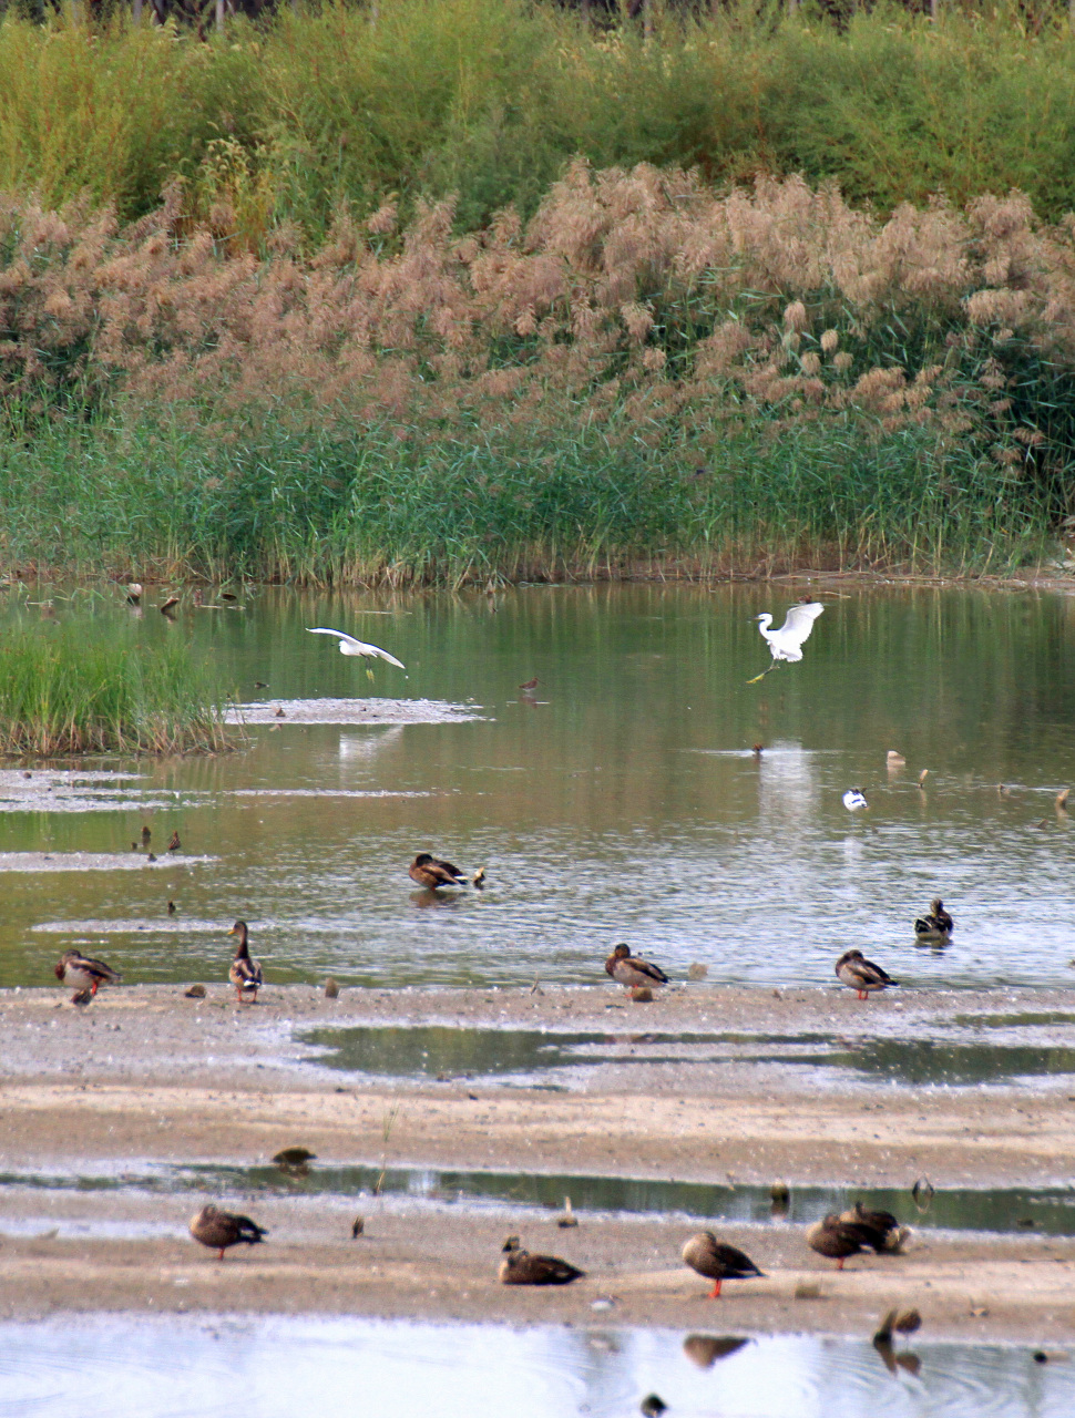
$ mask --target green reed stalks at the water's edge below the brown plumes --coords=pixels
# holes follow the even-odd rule
[[[0,457],[3,562],[24,570],[306,583],[484,584],[905,567],[996,574],[1035,560],[1049,518],[1010,471],[922,428],[763,427],[701,450],[604,430],[435,444],[390,427],[261,420],[199,430],[52,425]]]

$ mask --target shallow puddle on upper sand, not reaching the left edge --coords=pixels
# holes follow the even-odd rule
[[[1014,1017],[1018,1018],[1018,1017]],[[974,1086],[1028,1076],[1075,1075],[1075,1044],[994,1045],[824,1034],[555,1034],[538,1029],[363,1027],[311,1029],[313,1062],[390,1078],[482,1078],[529,1086],[566,1086],[572,1071],[655,1064],[764,1064],[867,1075],[909,1085]]]

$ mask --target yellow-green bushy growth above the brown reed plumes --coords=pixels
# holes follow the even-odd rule
[[[318,242],[342,211],[457,197],[458,230],[530,216],[564,164],[834,180],[888,213],[943,193],[1075,208],[1075,40],[1062,9],[939,18],[878,6],[841,30],[804,6],[650,6],[590,24],[525,0],[292,10],[257,27],[0,23],[0,191],[82,194],[123,220],[182,179],[230,240]]]

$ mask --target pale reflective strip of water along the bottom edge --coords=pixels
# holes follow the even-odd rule
[[[505,1310],[519,1296],[505,1296]],[[1068,1418],[1075,1364],[1028,1349],[353,1319],[84,1317],[0,1324],[0,1415],[423,1414]]]

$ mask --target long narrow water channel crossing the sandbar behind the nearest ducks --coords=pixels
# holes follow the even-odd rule
[[[1027,1235],[1075,1234],[1075,1190],[1066,1187],[937,1190],[916,1204],[908,1190],[869,1187],[791,1187],[787,1207],[774,1207],[769,1187],[726,1183],[661,1181],[580,1173],[508,1173],[441,1167],[393,1167],[374,1163],[308,1168],[228,1167],[216,1163],[167,1166],[143,1163],[102,1173],[0,1173],[6,1188],[33,1193],[138,1191],[206,1197],[291,1195],[340,1201],[380,1195],[421,1205],[464,1205],[496,1211],[562,1211],[570,1197],[579,1212],[675,1214],[711,1222],[810,1225],[830,1211],[861,1200],[891,1211],[912,1228],[990,1231]],[[919,1198],[922,1201],[922,1198]],[[67,1225],[68,1222],[65,1222]],[[92,1218],[87,1219],[92,1229]],[[0,1229],[3,1225],[0,1224]]]

